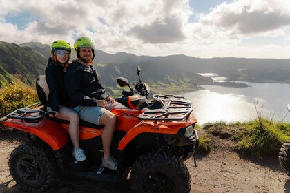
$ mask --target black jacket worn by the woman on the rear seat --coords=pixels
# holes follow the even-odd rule
[[[46,67],[46,83],[48,83],[48,106],[52,111],[59,111],[59,105],[64,105],[70,108],[70,99],[64,84],[64,72],[61,65],[53,65],[52,59],[48,59]]]

